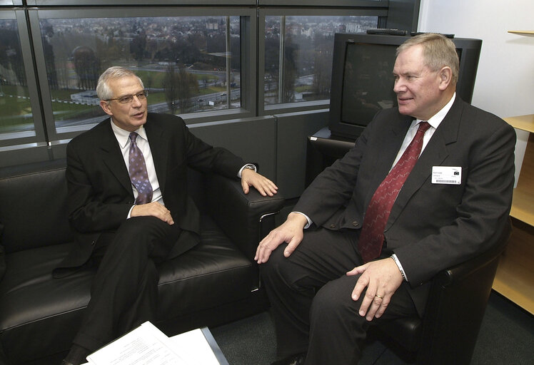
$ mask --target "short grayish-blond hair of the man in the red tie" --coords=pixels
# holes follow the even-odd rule
[[[443,34],[425,33],[409,38],[397,48],[398,53],[406,49],[417,46],[423,46],[423,57],[425,66],[432,71],[439,71],[441,68],[448,66],[453,71],[453,83],[458,82],[458,73],[460,72],[460,61],[456,46],[449,38]]]

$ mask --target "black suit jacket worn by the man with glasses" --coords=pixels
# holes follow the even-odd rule
[[[203,143],[175,115],[148,113],[144,128],[163,202],[183,230],[169,255],[176,257],[198,242],[199,213],[187,192],[187,168],[237,178],[245,163],[224,148]],[[109,118],[71,140],[66,155],[69,220],[78,240],[59,267],[78,267],[89,259],[102,232],[116,230],[126,220],[134,198]]]

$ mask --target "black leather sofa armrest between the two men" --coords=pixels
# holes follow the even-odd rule
[[[274,227],[284,198],[280,193],[263,197],[251,188],[243,192],[241,180],[206,174],[206,209],[223,232],[238,245],[248,259],[256,255],[258,242]]]

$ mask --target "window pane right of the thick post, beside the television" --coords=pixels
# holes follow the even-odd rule
[[[333,35],[378,27],[378,16],[267,15],[263,103],[330,98]]]

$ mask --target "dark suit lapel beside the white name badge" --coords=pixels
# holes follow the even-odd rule
[[[386,230],[395,222],[398,215],[401,214],[404,207],[410,200],[413,194],[420,189],[421,185],[426,180],[431,178],[432,167],[438,166],[443,163],[443,160],[448,156],[448,148],[450,144],[455,143],[458,140],[458,129],[460,125],[460,117],[463,110],[463,101],[456,96],[456,100],[453,106],[450,108],[445,118],[440,123],[438,129],[434,134],[425,150],[420,155],[419,160],[415,164],[408,179],[406,179],[401,192],[391,208]]]

